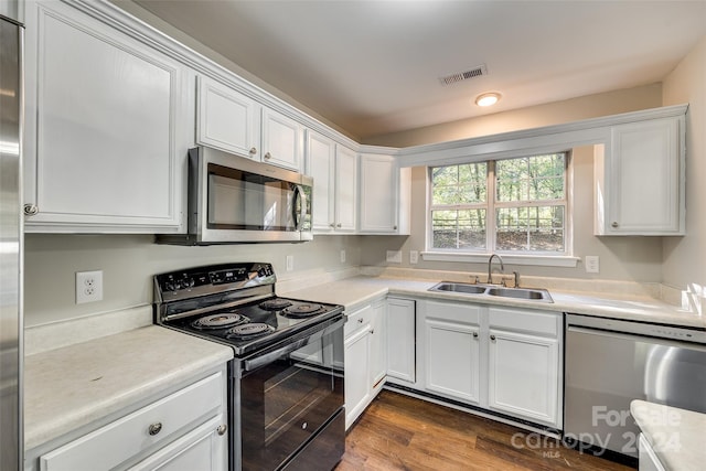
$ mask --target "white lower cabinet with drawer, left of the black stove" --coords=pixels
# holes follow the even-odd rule
[[[225,370],[42,453],[25,469],[225,471]]]

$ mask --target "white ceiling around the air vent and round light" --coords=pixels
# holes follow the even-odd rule
[[[136,2],[359,139],[661,82],[706,34],[706,0]]]

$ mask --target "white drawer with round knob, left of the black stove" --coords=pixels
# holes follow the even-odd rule
[[[176,438],[175,432],[197,425],[199,419],[212,417],[222,402],[223,375],[216,373],[40,457],[40,469],[113,469]]]

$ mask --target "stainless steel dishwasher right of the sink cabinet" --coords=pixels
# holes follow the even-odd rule
[[[706,329],[566,314],[564,377],[565,441],[638,457],[631,400],[706,413]]]

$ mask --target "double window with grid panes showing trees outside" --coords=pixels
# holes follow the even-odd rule
[[[567,153],[430,168],[430,249],[567,255]]]

